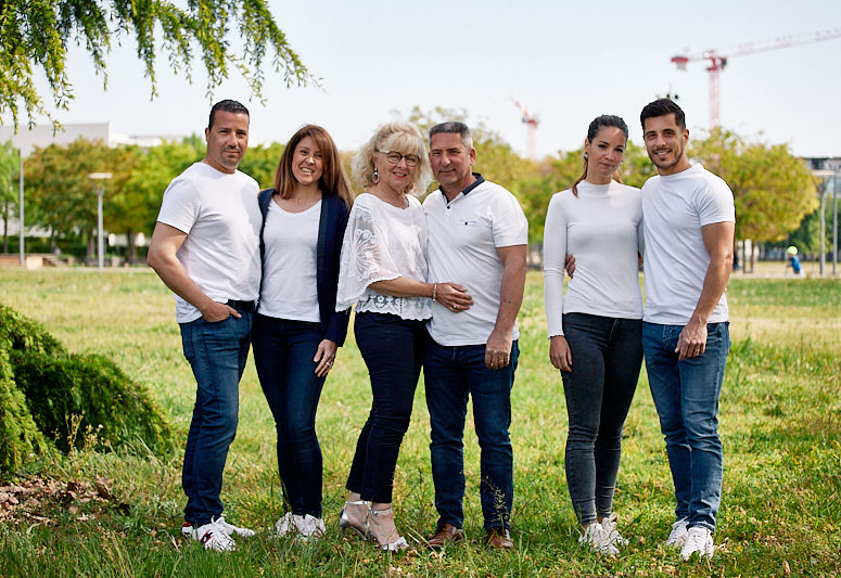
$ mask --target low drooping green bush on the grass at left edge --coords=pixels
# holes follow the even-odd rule
[[[80,447],[88,432],[110,446],[171,448],[169,425],[142,385],[102,356],[68,354],[39,323],[0,305],[0,470],[47,451],[46,439],[63,451]]]

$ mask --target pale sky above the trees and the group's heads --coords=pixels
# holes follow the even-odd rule
[[[158,97],[150,101],[135,46],[124,37],[107,57],[107,91],[84,50],[73,50],[76,99],[56,117],[111,121],[126,134],[180,136],[201,132],[212,102],[232,98],[252,111],[253,143],[285,142],[315,123],[352,150],[395,111],[445,106],[467,110],[470,120],[525,154],[517,97],[540,118],[538,153],[556,154],[581,146],[600,114],[623,116],[640,143],[639,110],[668,92],[679,97],[690,131],[705,130],[706,65],[678,70],[670,62],[676,53],[727,53],[744,42],[841,29],[838,0],[276,0],[271,7],[323,89],[286,89],[270,75],[264,107],[242,79],[231,78],[208,100],[200,62],[191,86],[161,53]],[[799,155],[841,156],[841,38],[730,59],[721,76],[721,124],[753,140],[788,143]]]

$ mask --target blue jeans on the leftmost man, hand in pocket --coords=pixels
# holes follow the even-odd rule
[[[219,493],[228,448],[237,435],[239,385],[251,344],[252,313],[209,323],[181,323],[184,357],[195,375],[193,419],[187,434],[181,486],[184,519],[202,526],[222,513]]]

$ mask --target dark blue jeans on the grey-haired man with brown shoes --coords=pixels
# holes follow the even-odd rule
[[[473,397],[473,421],[479,438],[479,494],[485,530],[510,528],[514,498],[511,388],[520,349],[511,346],[511,363],[498,370],[485,367],[485,345],[443,346],[426,336],[423,378],[432,426],[432,480],[438,528],[464,523],[464,418]]]

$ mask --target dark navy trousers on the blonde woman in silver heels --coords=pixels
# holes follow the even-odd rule
[[[423,321],[388,313],[356,313],[356,345],[371,377],[373,401],[347,476],[347,489],[362,500],[391,503],[394,471],[403,436],[409,428],[418,387]]]

